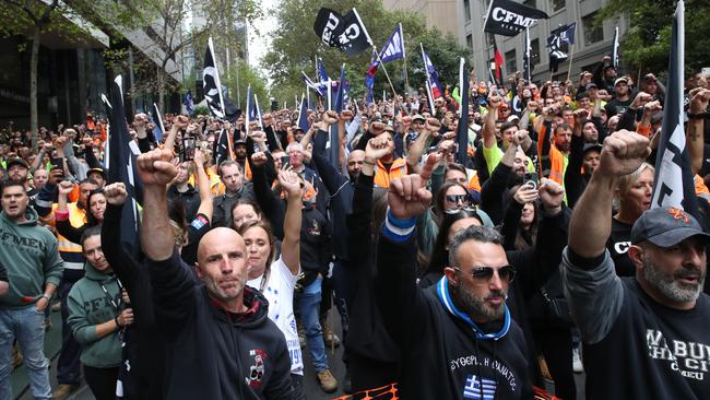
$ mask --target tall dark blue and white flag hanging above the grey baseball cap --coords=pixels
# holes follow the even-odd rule
[[[683,72],[685,56],[685,4],[678,1],[671,34],[668,84],[663,109],[663,127],[655,157],[651,208],[675,207],[699,216],[690,157],[683,129]]]

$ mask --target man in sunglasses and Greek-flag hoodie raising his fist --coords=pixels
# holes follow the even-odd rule
[[[516,271],[493,228],[471,226],[450,244],[435,285],[415,284],[416,217],[427,210],[426,183],[439,155],[418,175],[395,179],[378,244],[375,291],[384,326],[399,345],[403,399],[530,399],[523,333],[506,297]]]

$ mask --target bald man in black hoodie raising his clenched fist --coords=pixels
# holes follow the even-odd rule
[[[168,399],[289,399],[286,340],[268,302],[246,286],[244,239],[217,227],[198,247],[194,274],[175,248],[166,187],[177,175],[167,150],[138,158],[143,180],[141,245],[147,257],[155,318],[166,341]]]

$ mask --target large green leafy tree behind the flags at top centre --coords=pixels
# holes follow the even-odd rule
[[[406,46],[406,67],[410,85],[424,86],[425,72],[422,62],[419,43],[424,45],[431,62],[439,71],[442,84],[458,83],[459,58],[471,56],[470,50],[461,47],[453,36],[443,36],[436,30],[427,28],[422,15],[409,11],[384,10],[381,0],[284,0],[274,10],[279,30],[273,34],[271,51],[263,63],[270,71],[272,95],[280,102],[292,102],[294,95],[300,98],[305,91],[300,71],[315,78],[315,57],[323,59],[323,64],[334,80],[340,77],[340,68],[346,64],[346,79],[351,82],[351,98],[363,96],[365,73],[370,63],[371,50],[356,57],[347,57],[340,50],[326,46],[313,33],[313,22],[321,7],[346,13],[355,8],[375,43],[383,45],[398,23],[402,23],[404,44]],[[380,67],[381,69],[382,67]],[[404,93],[402,78],[403,61],[384,64],[398,94]],[[375,92],[390,92],[389,83],[382,71],[375,80]],[[388,94],[388,96],[391,96]]]

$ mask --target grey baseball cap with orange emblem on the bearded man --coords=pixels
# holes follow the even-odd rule
[[[631,227],[631,244],[649,240],[660,247],[671,247],[690,236],[710,235],[702,232],[698,221],[675,207],[662,207],[643,212]]]

